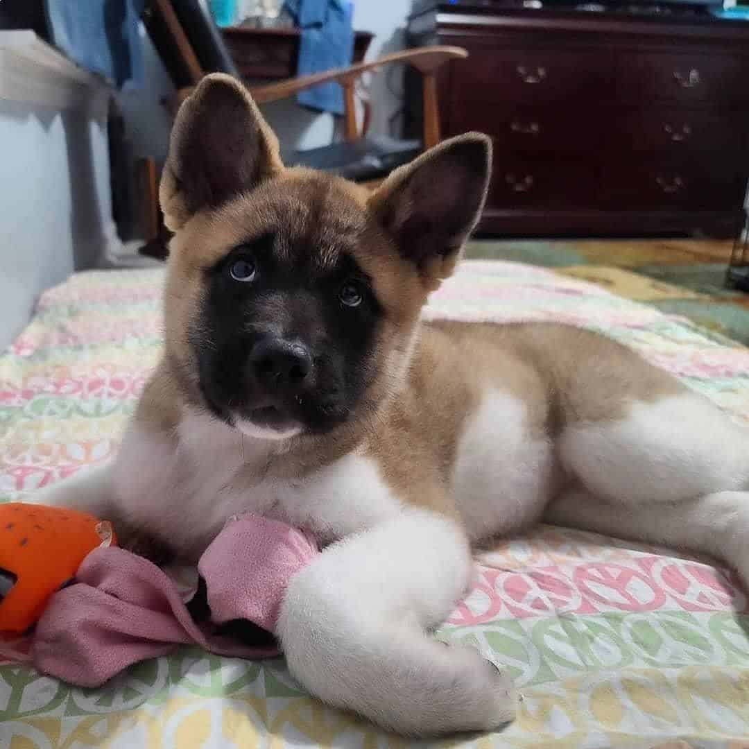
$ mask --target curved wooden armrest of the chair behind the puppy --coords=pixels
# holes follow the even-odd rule
[[[360,62],[349,67],[326,70],[324,73],[313,73],[310,76],[299,76],[278,83],[264,86],[251,86],[250,94],[258,104],[285,99],[327,81],[338,81],[342,85],[352,85],[363,73],[377,70],[383,65],[404,62],[415,67],[422,74],[431,74],[438,67],[452,59],[468,56],[467,50],[457,46],[425,46],[416,49],[404,49],[402,52],[391,52],[372,62]]]

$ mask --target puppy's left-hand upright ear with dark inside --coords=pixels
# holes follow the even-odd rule
[[[222,73],[205,76],[182,103],[172,128],[159,199],[178,231],[213,207],[282,169],[279,145],[249,93]]]

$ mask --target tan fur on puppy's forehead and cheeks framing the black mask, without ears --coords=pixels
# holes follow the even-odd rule
[[[426,296],[419,273],[386,246],[356,186],[306,169],[286,169],[261,184],[251,198],[243,196],[216,212],[198,213],[172,240],[164,297],[166,358],[154,375],[162,382],[160,388],[178,389],[170,400],[199,401],[187,334],[199,309],[203,270],[234,246],[279,226],[288,243],[306,240],[312,246],[330,247],[331,253],[342,246],[350,249],[372,276],[377,298],[388,312],[379,346],[387,364],[365,399],[375,404],[392,395],[404,373],[413,325]],[[342,455],[373,428],[376,413],[369,410],[366,416],[366,422],[346,425],[333,439],[299,440],[297,461],[285,454],[283,473],[320,464],[318,449],[330,460]]]

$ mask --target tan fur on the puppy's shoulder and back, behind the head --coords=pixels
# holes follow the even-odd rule
[[[427,324],[407,386],[368,442],[399,496],[455,515],[449,493],[434,488],[449,483],[463,425],[492,387],[524,404],[529,437],[556,437],[562,424],[613,422],[633,401],[686,392],[630,349],[586,330]]]

